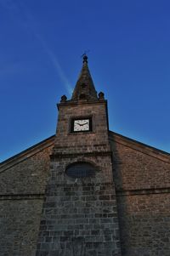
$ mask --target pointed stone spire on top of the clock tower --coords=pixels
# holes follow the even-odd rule
[[[82,71],[77,80],[71,100],[97,100],[94,82],[88,70],[88,56],[83,55]]]

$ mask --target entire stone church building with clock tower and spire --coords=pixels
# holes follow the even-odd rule
[[[56,134],[0,164],[0,256],[169,256],[170,155],[111,132],[83,57]]]

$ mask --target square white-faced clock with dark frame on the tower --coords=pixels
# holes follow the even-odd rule
[[[92,118],[91,117],[81,117],[73,118],[71,120],[71,132],[89,132],[92,131]]]

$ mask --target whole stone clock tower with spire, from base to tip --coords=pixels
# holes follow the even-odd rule
[[[121,256],[107,101],[84,55],[71,100],[62,96],[37,256]]]

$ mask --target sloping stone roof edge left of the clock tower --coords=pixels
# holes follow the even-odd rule
[[[55,135],[48,137],[48,139],[43,139],[41,142],[38,142],[36,145],[32,145],[31,147],[27,148],[25,151],[21,151],[19,154],[16,154],[3,162],[0,162],[0,173],[4,170],[11,168],[18,162],[22,162],[27,158],[37,154],[37,152],[48,148],[51,145],[54,145],[54,138]]]

